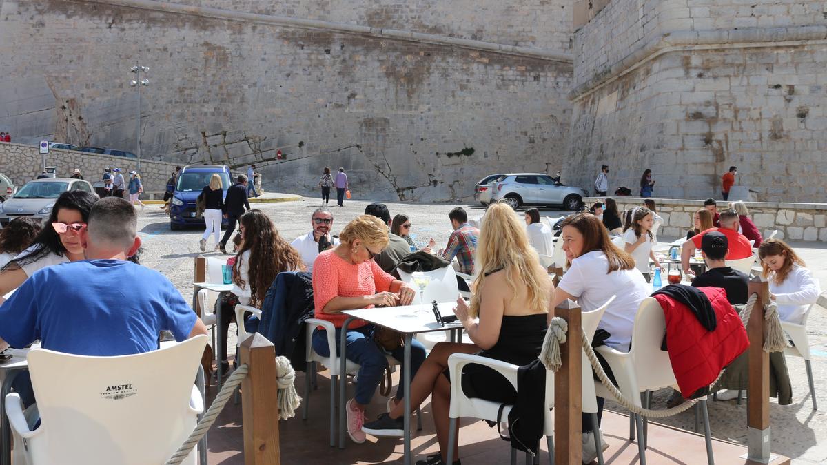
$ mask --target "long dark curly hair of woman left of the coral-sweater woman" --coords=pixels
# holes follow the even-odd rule
[[[250,251],[250,304],[258,307],[264,302],[275,276],[282,271],[304,271],[304,262],[299,252],[281,237],[270,217],[261,210],[244,213],[240,221],[241,227],[244,228],[244,243],[236,254],[236,262],[232,265],[232,282],[240,287],[247,285],[241,279],[239,266],[241,254]]]

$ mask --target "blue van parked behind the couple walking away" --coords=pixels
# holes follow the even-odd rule
[[[224,196],[232,185],[232,175],[227,165],[189,165],[184,166],[178,175],[178,182],[170,204],[170,229],[173,231],[184,226],[199,226],[204,228],[203,218],[195,218],[195,202],[204,186],[209,185],[214,174],[221,176],[221,185]],[[227,226],[227,218],[222,219],[222,226]]]

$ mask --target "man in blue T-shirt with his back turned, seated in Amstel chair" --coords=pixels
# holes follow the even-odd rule
[[[127,261],[141,247],[129,202],[100,200],[87,221],[72,233],[88,260],[37,271],[0,306],[0,349],[40,339],[49,350],[111,357],[157,349],[164,330],[177,341],[207,333],[166,276]],[[28,376],[21,376],[14,386],[29,405]]]

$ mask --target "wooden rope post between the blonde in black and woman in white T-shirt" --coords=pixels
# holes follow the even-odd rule
[[[580,305],[566,300],[554,309],[554,316],[568,322],[566,343],[560,345],[562,367],[554,376],[554,463],[580,465],[583,455],[583,393],[581,386]]]

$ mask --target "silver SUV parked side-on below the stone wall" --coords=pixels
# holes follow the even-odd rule
[[[543,173],[502,175],[490,186],[491,202],[505,199],[514,209],[522,205],[547,205],[576,211],[589,195],[584,189],[557,184]]]

